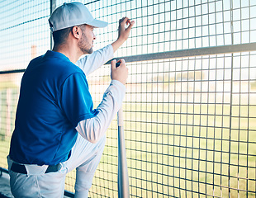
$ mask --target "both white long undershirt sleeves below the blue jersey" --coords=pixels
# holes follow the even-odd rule
[[[85,75],[92,73],[109,59],[113,58],[112,45],[107,45],[101,50],[79,59],[76,63],[83,70]],[[87,120],[78,123],[76,130],[91,143],[96,143],[106,133],[111,120],[121,108],[125,97],[126,87],[121,82],[112,80],[106,92],[103,94],[102,102],[97,106],[99,113]]]

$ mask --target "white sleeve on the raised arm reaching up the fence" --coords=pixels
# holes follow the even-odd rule
[[[113,59],[114,50],[112,45],[107,45],[106,47],[93,52],[87,56],[84,56],[82,59],[78,59],[76,65],[83,70],[85,75],[88,75],[95,71],[97,68],[100,68],[108,60]]]

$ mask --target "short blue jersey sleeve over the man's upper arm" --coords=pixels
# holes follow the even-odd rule
[[[98,111],[92,110],[92,96],[83,73],[73,73],[64,81],[59,93],[59,106],[73,127],[76,127],[79,121],[97,115]]]

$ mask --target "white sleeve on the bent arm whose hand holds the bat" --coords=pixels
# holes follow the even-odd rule
[[[91,143],[96,143],[106,133],[125,97],[126,87],[119,81],[112,80],[97,106],[98,114],[87,120],[81,120],[76,127],[79,134]]]

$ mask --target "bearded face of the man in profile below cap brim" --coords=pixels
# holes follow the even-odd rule
[[[93,40],[96,39],[93,33],[94,27],[89,25],[83,25],[80,26],[80,29],[82,31],[82,37],[78,41],[78,47],[83,52],[83,54],[92,54]]]

